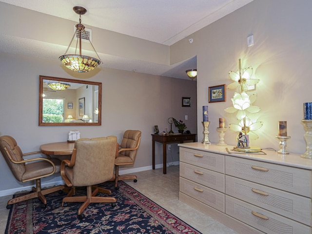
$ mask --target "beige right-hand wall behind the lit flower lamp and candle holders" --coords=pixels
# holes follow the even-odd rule
[[[253,66],[252,78],[256,85],[259,121],[259,139],[251,145],[279,150],[277,121],[288,122],[287,149],[292,153],[306,151],[303,103],[312,102],[312,1],[308,0],[254,0],[232,14],[182,39],[171,46],[171,62],[197,55],[197,127],[202,132],[203,105],[209,106],[209,139],[218,142],[218,118],[225,117],[226,125],[236,123],[234,114],[224,109],[232,106],[233,90],[228,90],[227,101],[208,103],[208,87],[230,84],[230,70]],[[247,37],[254,35],[254,46],[247,47]],[[189,38],[194,42],[190,44]],[[183,48],[183,49],[182,49]],[[198,135],[198,136],[199,136]],[[225,141],[236,144],[235,134],[227,130]]]

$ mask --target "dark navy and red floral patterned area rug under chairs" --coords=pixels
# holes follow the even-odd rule
[[[17,203],[10,210],[5,234],[200,234],[126,183],[119,181],[118,185],[115,190],[112,182],[101,184],[117,198],[115,207],[92,203],[82,220],[77,218],[82,203],[61,207],[64,194],[59,192],[46,195],[45,209],[40,208],[38,198]],[[85,191],[78,190],[81,194]]]

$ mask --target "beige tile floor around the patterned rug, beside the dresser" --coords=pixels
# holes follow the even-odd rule
[[[137,183],[134,183],[133,180],[125,182],[199,232],[203,234],[237,234],[211,217],[179,201],[179,166],[168,167],[167,174],[163,174],[162,168],[159,168],[137,172],[136,175]],[[9,215],[6,203],[11,197],[12,195],[0,197],[0,233],[5,231]]]

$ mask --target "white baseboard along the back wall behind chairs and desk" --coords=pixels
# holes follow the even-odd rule
[[[171,162],[170,165],[179,165],[179,161]],[[167,163],[167,167],[168,166],[169,165]],[[158,168],[162,168],[162,164],[155,165],[155,169],[158,169]],[[119,175],[132,174],[132,173],[148,171],[148,170],[152,170],[152,169],[153,169],[152,166],[124,169],[124,170],[120,169]],[[42,187],[42,189],[44,189],[47,187],[53,187],[53,186],[64,185],[64,184],[65,183],[63,180],[59,180],[59,181],[55,181],[55,182],[42,183],[41,187]],[[2,191],[0,191],[0,196],[13,195],[13,194],[20,193],[20,192],[28,192],[28,191],[31,191],[32,187],[33,187],[33,185],[26,186],[26,187],[14,188],[14,189],[2,190]]]

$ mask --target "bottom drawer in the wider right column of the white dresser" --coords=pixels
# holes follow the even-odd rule
[[[311,227],[226,195],[225,213],[267,234],[311,234]]]

